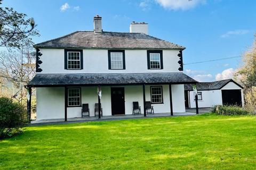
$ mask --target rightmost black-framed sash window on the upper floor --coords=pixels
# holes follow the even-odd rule
[[[163,69],[163,51],[162,50],[148,50],[148,69]]]

